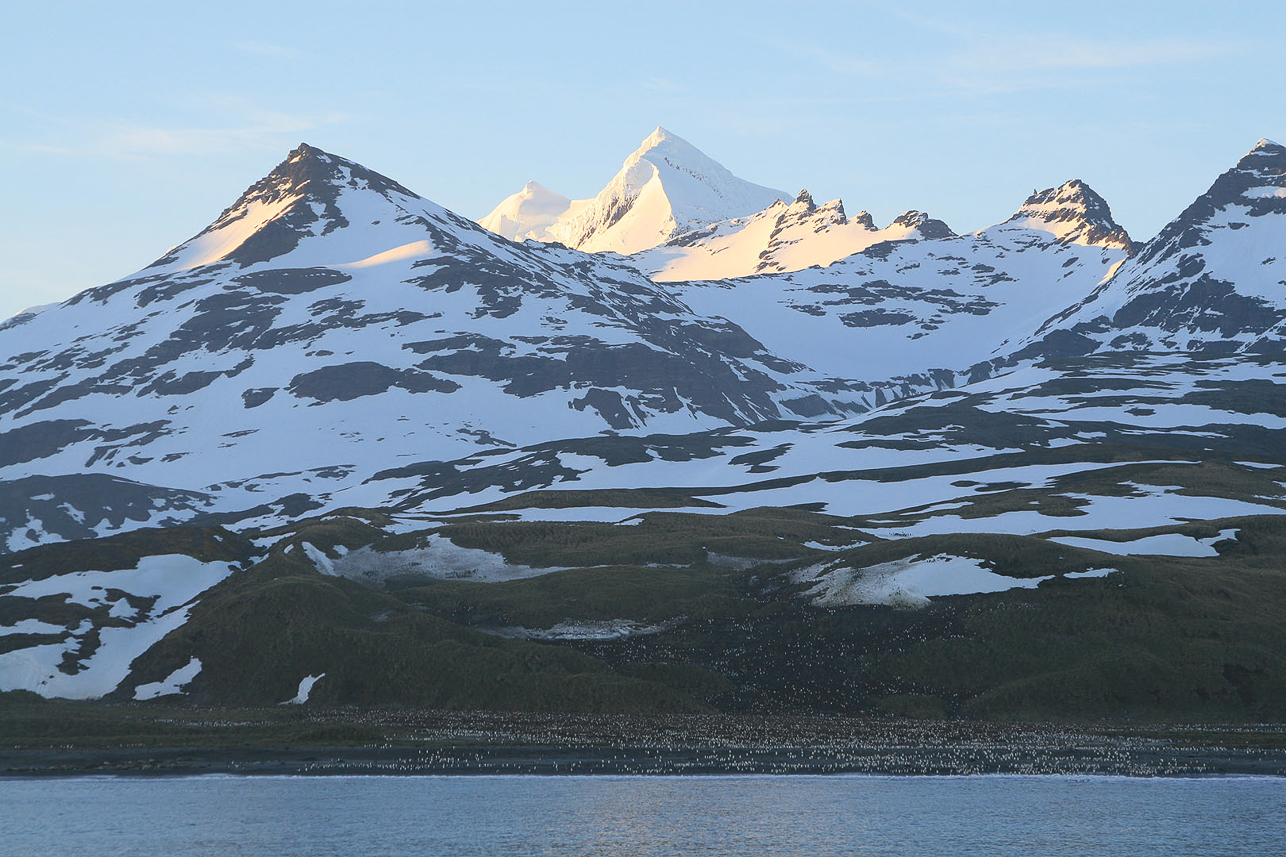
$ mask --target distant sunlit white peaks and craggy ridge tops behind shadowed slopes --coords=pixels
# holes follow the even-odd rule
[[[755,203],[761,206],[752,207]],[[950,228],[907,211],[877,228],[865,211],[793,201],[752,185],[665,129],[656,129],[593,199],[571,201],[535,181],[478,221],[514,241],[615,252],[655,282],[730,279],[827,266],[889,241],[936,239]],[[1038,192],[1004,224],[1044,241],[1133,250],[1107,202],[1079,180]]]

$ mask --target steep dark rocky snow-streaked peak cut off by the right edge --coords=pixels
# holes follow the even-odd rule
[[[1286,344],[1286,147],[1260,140],[1101,288],[1033,337],[1082,353]],[[1034,346],[1039,350],[1040,346]]]

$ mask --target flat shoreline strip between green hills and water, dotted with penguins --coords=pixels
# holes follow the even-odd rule
[[[50,717],[63,712],[64,719]],[[80,715],[87,719],[76,719]],[[1286,777],[1283,723],[1022,723],[408,708],[37,706],[0,779],[401,775]]]

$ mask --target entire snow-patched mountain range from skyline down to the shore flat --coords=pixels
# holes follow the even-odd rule
[[[658,134],[580,226],[674,203]],[[1283,165],[1260,143],[1142,248],[1069,181],[968,234],[693,203],[619,256],[301,145],[0,327],[0,690],[1281,712],[1286,642],[1227,604],[1282,597]],[[760,273],[658,282],[733,259]]]

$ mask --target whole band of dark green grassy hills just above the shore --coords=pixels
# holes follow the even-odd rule
[[[138,686],[198,658],[185,696],[141,710],[180,699],[211,709],[273,706],[280,713],[269,719],[285,730],[284,741],[294,740],[287,732],[297,709],[276,705],[310,676],[324,677],[309,709],[1286,719],[1286,521],[1277,516],[1075,534],[1211,539],[1237,530],[1214,542],[1219,556],[1209,558],[1111,556],[1020,535],[882,540],[856,521],[797,508],[651,511],[633,525],[480,513],[403,534],[390,534],[391,524],[349,510],[258,534],[276,539],[266,552],[219,529],[139,531],[5,557],[0,584],[130,567],[148,553],[239,562],[105,701],[127,703]],[[444,539],[534,566],[534,576],[379,579],[346,565],[363,555],[368,566],[406,557],[432,566]],[[935,597],[918,609],[819,606],[810,592],[819,574],[935,556],[1052,579]],[[1075,576],[1093,569],[1115,571]],[[59,597],[0,604],[6,624],[36,618],[71,627],[86,613]],[[109,625],[100,613],[95,622]],[[60,710],[81,712],[72,731],[116,728],[99,723],[93,705],[68,705]],[[105,710],[112,721],[121,709]]]

